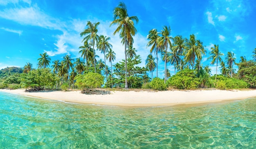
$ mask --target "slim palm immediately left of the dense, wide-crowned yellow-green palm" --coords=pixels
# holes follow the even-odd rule
[[[186,39],[183,39],[181,35],[174,37],[174,46],[173,50],[177,52],[178,55],[180,55],[180,70],[182,70],[182,54],[183,50],[186,49]]]

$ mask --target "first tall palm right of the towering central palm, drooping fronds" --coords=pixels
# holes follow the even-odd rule
[[[155,54],[156,54],[156,58],[157,58],[157,77],[158,77],[158,56],[157,56],[157,53],[159,52],[159,49],[157,47],[157,40],[159,38],[158,34],[159,33],[157,32],[157,29],[151,29],[148,32],[148,36],[147,36],[147,39],[149,40],[148,44],[147,44],[147,47],[152,46],[150,48],[150,53],[152,53],[154,51]]]

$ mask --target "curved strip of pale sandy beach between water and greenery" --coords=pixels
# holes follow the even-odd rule
[[[25,92],[25,89],[0,89],[7,93],[16,93],[49,100],[64,102],[108,105],[121,107],[153,107],[191,104],[209,104],[228,100],[243,100],[256,97],[256,89],[234,90],[189,90],[189,91],[110,91],[106,95],[85,95],[81,91],[37,91]]]

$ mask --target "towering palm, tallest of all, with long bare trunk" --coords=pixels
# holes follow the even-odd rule
[[[117,7],[114,9],[114,20],[111,22],[112,24],[117,24],[117,29],[113,33],[114,35],[121,31],[120,35],[124,35],[124,53],[125,53],[125,67],[126,67],[126,75],[125,75],[125,88],[128,89],[127,83],[127,58],[126,58],[126,38],[130,39],[131,36],[134,36],[137,30],[134,27],[134,22],[138,22],[137,16],[128,16],[127,8],[124,2],[120,2]]]

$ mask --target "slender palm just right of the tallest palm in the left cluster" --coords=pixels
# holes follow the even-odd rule
[[[101,53],[104,53],[104,62],[106,64],[106,52],[112,48],[112,44],[110,44],[108,41],[110,40],[110,37],[107,36],[99,36],[99,42],[98,42],[98,49],[101,51]],[[105,74],[106,74],[106,84],[108,85],[108,73],[106,72],[105,65]]]

